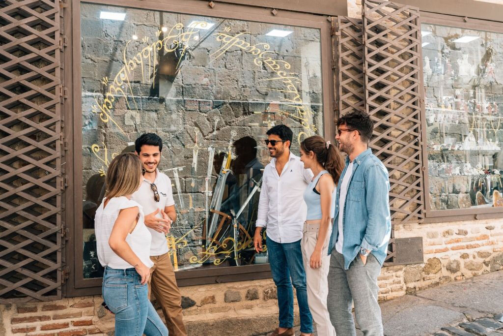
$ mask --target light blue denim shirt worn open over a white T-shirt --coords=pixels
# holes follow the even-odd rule
[[[328,254],[336,248],[339,235],[339,195],[341,184],[348,169],[346,167],[339,178],[336,194],[336,213],[332,223],[332,235],[328,245]],[[388,241],[391,234],[391,216],[389,212],[389,178],[383,163],[370,149],[360,154],[353,161],[353,175],[348,186],[343,217],[343,256],[344,268],[360,252],[360,248],[370,250],[381,263],[386,258]]]

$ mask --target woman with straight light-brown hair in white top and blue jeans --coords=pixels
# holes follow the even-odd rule
[[[103,299],[115,314],[116,336],[168,334],[148,300],[151,235],[141,206],[130,200],[142,180],[140,159],[118,155],[108,167],[105,197],[96,211],[98,259],[105,267]]]

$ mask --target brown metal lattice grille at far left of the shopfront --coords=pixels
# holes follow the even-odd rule
[[[61,298],[60,11],[0,2],[0,303]]]

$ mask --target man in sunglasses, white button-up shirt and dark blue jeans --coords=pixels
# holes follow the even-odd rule
[[[279,328],[272,335],[295,334],[292,284],[297,292],[301,335],[309,335],[312,316],[300,241],[307,213],[302,195],[313,174],[290,152],[290,128],[276,125],[267,131],[267,136],[265,142],[273,159],[264,170],[254,245],[257,252],[262,251],[262,228],[267,227],[267,250],[279,306]]]

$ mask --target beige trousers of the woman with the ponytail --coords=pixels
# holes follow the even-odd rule
[[[323,251],[321,254],[321,266],[311,268],[309,260],[316,246],[318,239],[319,224],[304,224],[304,235],[302,237],[302,260],[306,271],[307,282],[307,302],[309,310],[316,323],[318,336],[335,336],[336,330],[330,323],[330,315],[326,308],[326,297],[328,295],[328,270],[330,267],[330,256],[327,255],[328,241],[330,240],[331,227],[328,228]]]

